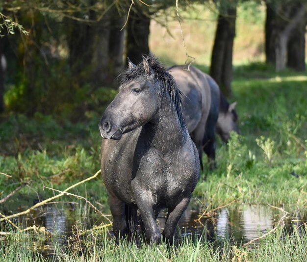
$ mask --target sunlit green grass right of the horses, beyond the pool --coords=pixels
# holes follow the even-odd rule
[[[261,72],[249,70],[245,74]],[[207,182],[198,183],[195,194],[213,206],[238,198],[306,209],[307,77],[293,72],[273,77],[265,71],[270,78],[247,79],[237,74],[231,100],[238,102],[241,136],[233,134],[228,146],[219,143],[218,168],[205,170]]]

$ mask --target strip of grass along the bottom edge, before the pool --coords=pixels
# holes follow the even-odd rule
[[[40,238],[38,240],[38,238]],[[230,242],[218,241],[209,243],[203,238],[192,241],[186,237],[177,246],[146,245],[122,241],[116,245],[114,239],[109,240],[106,232],[93,233],[85,238],[72,237],[69,241],[68,253],[57,245],[53,255],[44,256],[37,251],[37,246],[45,236],[33,237],[27,234],[13,234],[0,243],[0,259],[5,262],[15,261],[54,261],[94,262],[94,261],[303,261],[307,253],[307,235],[294,228],[292,236],[284,236],[282,230],[271,234],[257,245],[237,247]],[[27,244],[31,243],[30,246]],[[47,248],[47,247],[46,247]],[[46,253],[45,253],[46,254]]]

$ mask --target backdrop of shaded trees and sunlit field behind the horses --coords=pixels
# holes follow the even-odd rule
[[[184,63],[181,31],[195,64],[227,96],[233,65],[260,61],[276,71],[306,70],[304,0],[178,3],[182,27],[175,1],[4,1],[0,112],[83,118],[114,96],[106,87],[117,88],[127,56],[137,63],[152,52],[166,65]],[[8,33],[6,20],[28,35],[18,28]]]

